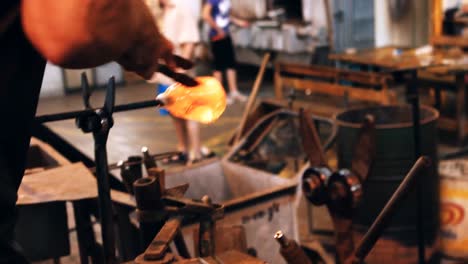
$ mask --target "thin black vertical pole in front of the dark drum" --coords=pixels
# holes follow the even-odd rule
[[[414,141],[414,159],[421,156],[421,124],[420,124],[420,109],[419,109],[419,94],[417,82],[417,70],[412,70],[407,90],[407,98],[411,104],[412,120],[413,120],[413,141]],[[418,234],[418,261],[420,264],[425,263],[425,241],[424,241],[424,217],[423,217],[423,191],[421,181],[417,184],[417,234]]]

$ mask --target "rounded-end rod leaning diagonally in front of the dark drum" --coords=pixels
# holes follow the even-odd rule
[[[409,193],[410,188],[420,174],[421,170],[430,165],[430,159],[426,156],[420,157],[413,165],[411,170],[405,176],[401,184],[398,186],[395,193],[393,193],[390,200],[387,202],[382,212],[377,216],[372,226],[364,235],[359,245],[356,247],[352,257],[354,259],[351,263],[361,263],[367,254],[371,251],[384,229],[389,224],[391,218],[395,214],[396,209],[403,202],[403,199]],[[419,181],[421,182],[421,181]],[[417,184],[419,186],[420,184]]]

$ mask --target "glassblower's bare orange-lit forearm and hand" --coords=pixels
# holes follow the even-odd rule
[[[171,67],[172,44],[142,0],[23,0],[26,36],[48,60],[93,67],[116,60],[148,78],[162,58]]]

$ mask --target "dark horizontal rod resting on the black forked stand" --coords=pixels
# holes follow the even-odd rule
[[[163,105],[163,103],[158,100],[148,100],[148,101],[142,101],[142,102],[116,105],[114,107],[114,113],[148,108],[148,107],[161,106],[161,105]],[[97,109],[87,109],[87,110],[78,110],[78,111],[50,114],[50,115],[41,115],[41,116],[36,116],[35,120],[38,123],[62,121],[62,120],[67,120],[67,119],[74,119],[81,115],[92,114],[92,113],[95,113],[96,110]]]

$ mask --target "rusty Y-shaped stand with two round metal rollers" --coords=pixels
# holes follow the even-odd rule
[[[375,155],[374,118],[366,116],[362,124],[351,169],[333,172],[314,124],[303,109],[299,115],[302,143],[310,166],[302,175],[302,191],[312,204],[327,205],[335,229],[337,261],[343,263],[353,252],[352,216]]]

